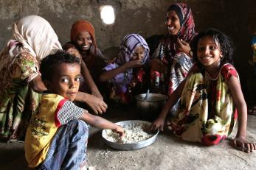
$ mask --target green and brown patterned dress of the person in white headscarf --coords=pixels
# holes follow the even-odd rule
[[[25,49],[0,72],[0,137],[22,140],[41,94],[29,88],[28,79],[38,71],[38,62]]]

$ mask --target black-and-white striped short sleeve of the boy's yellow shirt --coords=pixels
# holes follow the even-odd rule
[[[57,124],[67,124],[69,121],[80,118],[84,109],[77,107],[73,102],[66,100],[57,113]],[[87,112],[87,110],[86,110]],[[87,112],[88,113],[88,112]]]

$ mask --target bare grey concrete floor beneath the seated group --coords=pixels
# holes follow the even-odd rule
[[[111,121],[138,119],[133,107],[110,108],[105,113]],[[248,116],[247,139],[256,142],[256,116]],[[256,152],[245,153],[223,141],[218,146],[181,141],[170,132],[160,133],[151,146],[133,151],[118,151],[103,143],[101,130],[91,128],[89,166],[95,169],[255,169]],[[231,137],[235,136],[235,131]],[[0,143],[0,169],[27,169],[24,144]]]

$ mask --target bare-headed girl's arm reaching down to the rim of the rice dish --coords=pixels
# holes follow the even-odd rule
[[[181,97],[181,93],[183,91],[185,82],[186,82],[186,79],[184,79],[184,81],[182,81],[181,84],[179,84],[178,88],[176,88],[176,90],[173,91],[173,93],[169,96],[159,117],[156,118],[155,121],[153,121],[153,123],[151,125],[151,130],[157,130],[158,128],[162,131],[164,130],[165,118],[166,118],[167,114],[169,113],[170,108],[173,107],[173,105],[175,105],[176,102]]]

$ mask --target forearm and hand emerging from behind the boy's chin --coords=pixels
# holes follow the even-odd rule
[[[108,105],[105,104],[103,99],[97,98],[89,93],[83,93],[80,91],[78,91],[75,101],[86,103],[96,114],[105,113],[106,109],[108,108]]]

